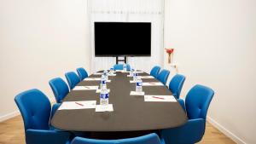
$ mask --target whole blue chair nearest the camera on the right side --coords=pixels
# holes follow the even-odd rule
[[[197,84],[189,90],[185,104],[183,100],[178,100],[187,112],[189,120],[183,126],[160,130],[161,138],[166,144],[192,144],[201,141],[206,129],[207,110],[213,95],[212,89]]]

